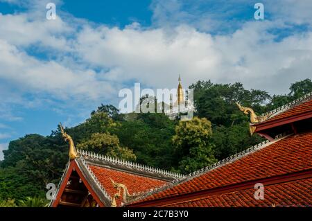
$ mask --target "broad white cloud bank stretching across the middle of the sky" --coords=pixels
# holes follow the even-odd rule
[[[76,107],[103,100],[114,102],[119,99],[118,90],[129,82],[171,88],[176,87],[178,74],[185,87],[211,79],[240,81],[248,88],[286,93],[291,82],[311,77],[312,64],[311,31],[293,33],[279,42],[268,31],[285,26],[281,17],[288,12],[294,14],[297,23],[306,20],[305,10],[301,20],[299,11],[311,4],[290,8],[291,3],[287,1],[281,10],[284,15],[277,21],[243,22],[232,33],[211,35],[200,31],[211,27],[198,30],[202,21],[192,20],[198,7],[184,12],[177,1],[153,5],[154,17],[170,20],[174,16],[182,21],[172,28],[162,26],[164,22],[150,28],[137,23],[110,28],[70,16],[48,21],[38,16],[45,10],[33,13],[43,6],[35,1],[31,12],[0,15],[0,92],[5,95],[0,97],[1,107],[8,109],[10,103],[21,103],[26,107],[65,108],[50,98]],[[234,7],[233,2],[226,7]],[[276,16],[277,8],[266,6]],[[216,15],[206,14],[202,19],[211,19],[213,28],[223,22]],[[31,46],[47,58],[32,56]],[[27,100],[24,94],[35,98]],[[5,117],[3,114],[10,112],[0,110],[0,118]]]

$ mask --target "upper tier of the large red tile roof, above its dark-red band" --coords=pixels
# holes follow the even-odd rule
[[[312,169],[312,132],[286,136],[240,159],[209,170],[145,199],[155,200],[255,179]]]

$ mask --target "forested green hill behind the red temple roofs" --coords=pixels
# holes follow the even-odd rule
[[[261,114],[311,92],[312,82],[295,82],[284,95],[244,89],[241,83],[200,81],[190,88],[196,106],[192,121],[171,121],[164,114],[125,115],[101,105],[85,123],[66,131],[77,148],[190,173],[261,141],[257,134],[250,136],[249,118],[235,102]],[[68,161],[68,145],[55,125],[50,136],[28,134],[10,141],[3,154],[0,206],[44,204],[46,184],[58,182]]]

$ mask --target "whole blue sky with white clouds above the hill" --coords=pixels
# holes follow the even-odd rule
[[[57,19],[46,19],[46,4]],[[181,74],[286,94],[311,78],[312,1],[0,0],[0,152],[84,121],[119,90],[173,88]],[[0,159],[1,159],[0,153]]]

